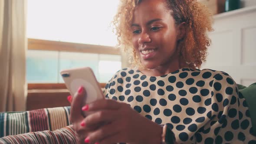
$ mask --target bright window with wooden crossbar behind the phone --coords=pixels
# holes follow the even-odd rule
[[[89,66],[99,82],[121,69],[110,23],[118,0],[28,0],[28,83],[63,83],[62,69]]]

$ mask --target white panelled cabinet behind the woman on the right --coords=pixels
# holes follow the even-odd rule
[[[256,82],[256,6],[214,16],[212,45],[202,68],[227,72],[238,84]]]

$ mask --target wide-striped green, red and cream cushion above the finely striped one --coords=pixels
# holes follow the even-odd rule
[[[0,137],[34,131],[55,131],[70,125],[70,107],[0,113]]]

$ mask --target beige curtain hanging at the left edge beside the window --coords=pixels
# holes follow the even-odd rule
[[[26,110],[26,0],[0,0],[0,112]]]

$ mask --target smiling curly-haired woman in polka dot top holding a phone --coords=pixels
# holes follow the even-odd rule
[[[114,24],[134,68],[118,71],[108,82],[108,100],[82,110],[86,90],[79,88],[70,116],[77,142],[256,142],[246,101],[233,79],[225,72],[196,69],[210,46],[205,7],[196,0],[121,0]],[[84,118],[82,111],[94,112]]]

